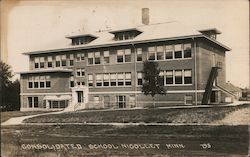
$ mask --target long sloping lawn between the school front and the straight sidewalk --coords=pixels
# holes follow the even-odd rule
[[[249,108],[250,104],[230,107],[136,109],[117,111],[68,112],[26,119],[29,123],[210,123],[223,119],[228,113]]]

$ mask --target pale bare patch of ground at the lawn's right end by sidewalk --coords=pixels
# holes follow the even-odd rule
[[[250,108],[244,108],[231,112],[222,120],[215,121],[220,124],[249,124],[250,125]]]

